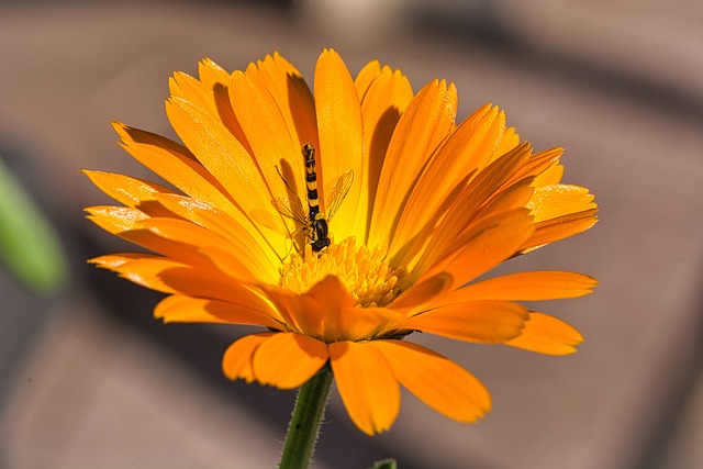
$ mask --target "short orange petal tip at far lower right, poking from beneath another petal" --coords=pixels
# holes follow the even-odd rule
[[[511,347],[546,355],[569,355],[583,336],[569,324],[547,314],[531,312],[522,334],[505,343]]]

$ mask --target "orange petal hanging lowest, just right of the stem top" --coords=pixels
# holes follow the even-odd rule
[[[352,422],[367,435],[386,432],[400,411],[400,387],[383,355],[370,343],[330,344],[332,371]]]

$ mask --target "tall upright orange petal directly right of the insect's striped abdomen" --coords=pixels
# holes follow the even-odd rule
[[[325,49],[315,67],[315,111],[320,138],[319,185],[326,188],[347,170],[354,171],[354,183],[335,215],[335,236],[344,239],[356,235],[364,239],[366,220],[359,217],[359,206],[368,204],[368,182],[365,180],[368,160],[364,154],[361,104],[346,65],[333,49]],[[326,197],[326,194],[325,194]],[[321,206],[326,210],[325,197]]]

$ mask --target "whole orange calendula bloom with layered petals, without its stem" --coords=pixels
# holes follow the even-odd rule
[[[91,261],[168,293],[155,309],[165,322],[261,326],[225,351],[230,379],[292,389],[328,362],[371,435],[394,422],[400,384],[460,422],[490,410],[483,384],[404,340],[412,332],[574,351],[573,327],[518,301],[580,297],[592,278],[475,280],[595,223],[589,191],[560,182],[561,148],[533,152],[491,104],[457,124],[454,85],[415,94],[376,60],[354,79],[334,51],[317,60],[314,96],[278,54],[233,74],[205,59],[199,75],[169,82],[182,145],[113,124],[175,189],[86,171],[122,204],[89,217],[156,254]]]

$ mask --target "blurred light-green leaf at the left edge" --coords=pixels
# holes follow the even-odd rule
[[[67,261],[48,221],[0,159],[0,260],[38,293],[66,281]]]

